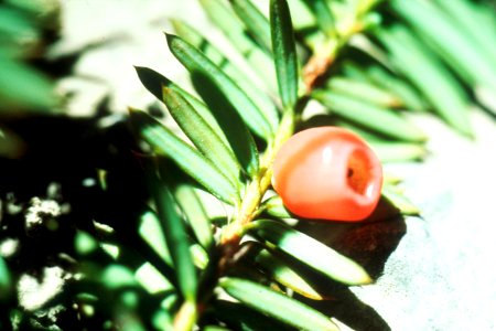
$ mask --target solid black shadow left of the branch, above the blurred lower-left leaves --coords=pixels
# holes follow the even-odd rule
[[[147,199],[143,170],[127,119],[101,127],[99,118],[30,116],[3,120],[22,139],[25,150],[17,159],[0,158],[1,221],[4,236],[19,237],[23,265],[35,269],[60,252],[72,254],[76,228],[94,231],[93,220],[112,227],[126,224],[141,211]],[[105,171],[107,189],[99,183]],[[56,184],[58,192],[47,194]],[[69,210],[57,220],[56,231],[40,226],[28,231],[25,209],[32,199],[55,200]],[[10,213],[9,205],[20,209]],[[129,222],[129,221],[128,221]],[[136,222],[136,221],[134,221]]]

